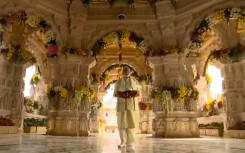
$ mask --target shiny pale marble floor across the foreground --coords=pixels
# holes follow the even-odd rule
[[[0,153],[124,153],[117,133],[89,137],[0,135]],[[217,137],[152,138],[136,134],[134,153],[245,153],[245,139]]]

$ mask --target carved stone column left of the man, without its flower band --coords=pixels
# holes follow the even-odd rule
[[[94,66],[95,59],[68,55],[68,57],[57,58],[52,63],[54,67],[53,87],[88,86],[89,70]],[[74,97],[69,95],[66,99],[59,99],[57,104],[50,105],[47,133],[75,136],[78,130],[79,136],[88,136],[88,99],[85,100],[84,106],[78,112],[79,118],[77,118],[75,111],[76,107]]]

